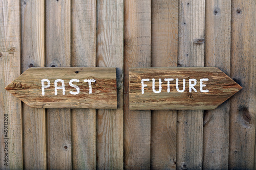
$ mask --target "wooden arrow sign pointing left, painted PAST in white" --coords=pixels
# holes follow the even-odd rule
[[[116,109],[116,68],[32,67],[5,89],[32,108]]]

